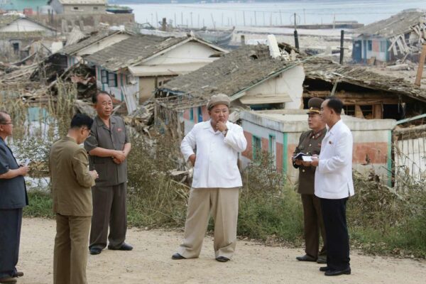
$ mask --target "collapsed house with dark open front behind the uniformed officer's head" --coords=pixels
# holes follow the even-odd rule
[[[361,119],[400,120],[426,112],[426,89],[403,78],[321,58],[310,58],[303,66],[306,108],[311,97],[324,99],[332,93],[342,99],[345,114]]]

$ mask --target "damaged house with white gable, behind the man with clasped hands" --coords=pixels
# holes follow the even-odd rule
[[[144,102],[170,78],[197,70],[224,53],[226,50],[193,36],[133,35],[86,60],[96,67],[99,89],[121,101],[136,94]]]

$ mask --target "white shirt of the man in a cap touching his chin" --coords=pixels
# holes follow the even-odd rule
[[[210,121],[195,124],[180,143],[180,151],[188,160],[197,148],[193,188],[241,187],[237,159],[238,153],[246,150],[247,141],[243,129],[226,122],[226,136],[214,131]]]

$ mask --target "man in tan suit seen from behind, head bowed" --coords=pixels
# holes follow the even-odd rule
[[[93,119],[76,114],[67,136],[50,149],[53,212],[56,237],[53,256],[54,284],[86,284],[87,246],[92,217],[91,187],[98,177],[79,145],[89,136]]]

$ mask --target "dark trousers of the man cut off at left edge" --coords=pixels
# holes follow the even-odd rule
[[[16,274],[21,225],[22,208],[0,209],[0,278]]]

